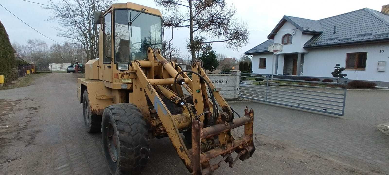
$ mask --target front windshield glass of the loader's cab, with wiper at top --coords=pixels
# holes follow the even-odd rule
[[[147,46],[162,49],[162,19],[159,16],[120,9],[114,12],[115,62],[147,58]]]

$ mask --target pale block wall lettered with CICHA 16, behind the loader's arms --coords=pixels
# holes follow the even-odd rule
[[[240,71],[233,71],[231,74],[207,74],[212,84],[225,99],[238,98]],[[192,89],[196,93],[196,89]],[[184,94],[188,94],[185,88],[182,88]],[[207,91],[208,92],[208,91]]]

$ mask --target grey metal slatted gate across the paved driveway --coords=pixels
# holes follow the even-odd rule
[[[240,98],[328,114],[344,114],[347,78],[252,73],[241,73],[240,77]]]

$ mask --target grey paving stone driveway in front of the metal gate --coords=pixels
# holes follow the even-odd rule
[[[299,148],[342,159],[360,159],[387,169],[389,136],[376,126],[389,122],[388,102],[389,91],[348,90],[344,116],[259,102],[230,105],[240,113],[246,105],[254,109],[256,133]]]

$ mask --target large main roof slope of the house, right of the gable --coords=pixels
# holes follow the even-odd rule
[[[323,33],[312,37],[305,48],[389,39],[389,16],[376,10],[364,8],[318,21]]]

